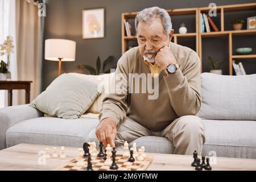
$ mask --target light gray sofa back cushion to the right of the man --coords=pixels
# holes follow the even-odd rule
[[[256,74],[201,74],[202,119],[256,120]]]

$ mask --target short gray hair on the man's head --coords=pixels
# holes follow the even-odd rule
[[[139,11],[135,18],[135,30],[137,34],[137,28],[139,22],[150,22],[153,18],[160,18],[166,35],[169,36],[172,29],[171,17],[166,10],[154,6],[148,7],[142,11]]]

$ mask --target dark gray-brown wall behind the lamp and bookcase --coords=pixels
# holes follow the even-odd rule
[[[114,56],[114,61],[110,67],[114,66],[121,56],[121,13],[140,11],[146,7],[159,6],[164,9],[179,9],[188,7],[205,7],[212,0],[201,1],[146,1],[146,0],[46,0],[47,16],[45,19],[44,39],[61,38],[75,40],[77,43],[76,61],[63,63],[63,72],[78,72],[81,70],[76,68],[77,64],[90,64],[95,67],[97,56],[101,60],[106,59],[109,55]],[[230,5],[236,3],[250,3],[255,0],[233,0],[233,1],[214,1],[218,5]],[[105,38],[103,39],[82,39],[82,10],[84,9],[105,9]],[[255,16],[255,11],[247,13],[229,14],[225,16],[225,21],[236,16],[246,19],[247,16]],[[217,17],[219,18],[219,16]],[[184,16],[173,17],[175,32],[181,22],[185,22],[189,31],[195,29],[194,23],[191,23],[193,17]],[[217,22],[217,21],[216,21]],[[218,23],[217,23],[218,26]],[[228,24],[225,27],[229,30]],[[234,47],[251,46],[256,52],[255,42],[256,36],[239,36],[233,39]],[[195,39],[182,39],[178,42],[184,46],[195,49]],[[131,42],[136,44],[136,42]],[[216,60],[225,60],[222,69],[225,75],[228,75],[228,38],[205,38],[203,39],[203,71],[209,71],[207,56],[212,56]],[[256,73],[255,60],[243,61],[248,74]],[[58,64],[55,61],[43,61],[43,90],[57,77]]]

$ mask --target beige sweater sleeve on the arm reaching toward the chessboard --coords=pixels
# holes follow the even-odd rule
[[[127,113],[127,90],[128,90],[128,58],[124,54],[118,60],[117,69],[115,69],[115,76],[113,78],[114,84],[111,84],[112,92],[106,93],[102,101],[102,107],[99,114],[100,122],[105,118],[112,118],[115,125],[122,122]],[[119,83],[118,83],[119,82]],[[119,86],[118,86],[119,85]],[[120,87],[122,85],[122,88]],[[121,88],[121,89],[120,89]]]

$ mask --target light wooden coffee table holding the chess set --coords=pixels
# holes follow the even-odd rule
[[[1,150],[0,170],[53,170],[77,156],[77,148],[65,147],[67,159],[48,159],[46,164],[39,165],[42,162],[39,151],[44,151],[46,147],[52,152],[52,146],[38,144],[18,144]],[[60,147],[57,148],[60,151]],[[195,168],[191,167],[192,155],[146,154],[154,157],[148,170],[195,171]],[[256,170],[256,159],[217,158],[216,163],[211,164],[212,170]]]

